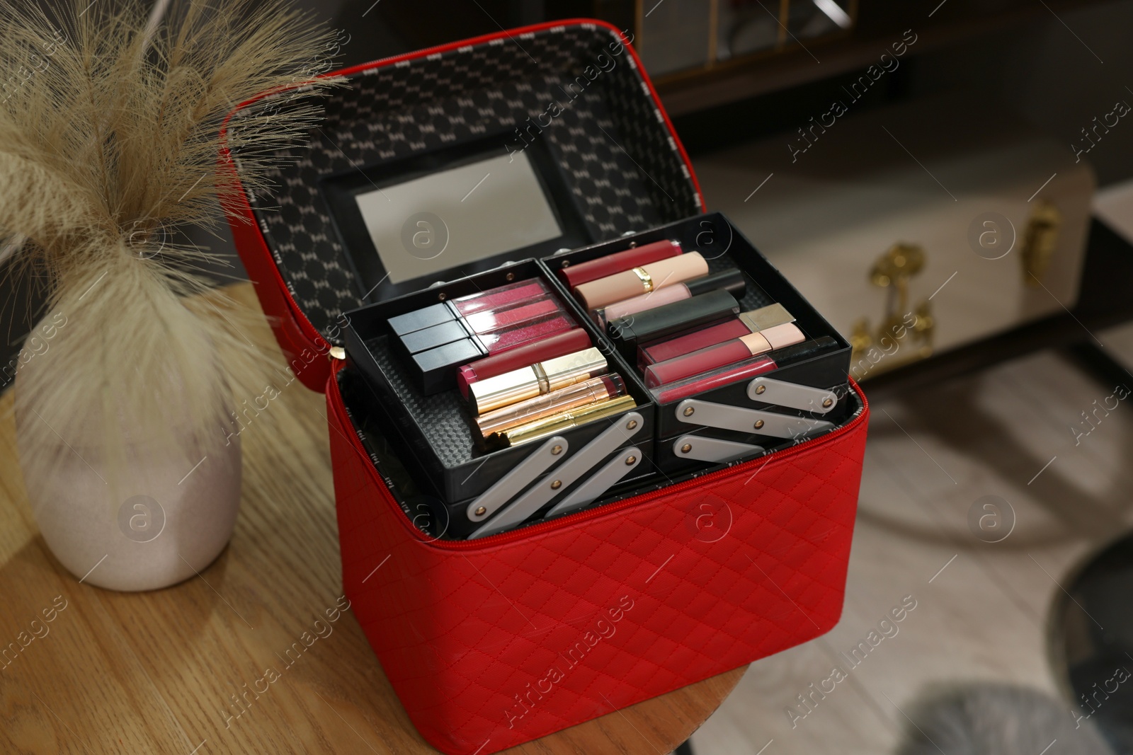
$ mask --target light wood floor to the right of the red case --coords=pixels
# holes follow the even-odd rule
[[[1133,370],[1133,326],[1097,335]],[[879,755],[903,740],[903,712],[943,685],[1006,681],[1057,695],[1046,644],[1056,581],[1133,521],[1133,396],[1077,445],[1070,429],[1110,393],[1041,352],[874,404],[841,623],[752,663],[693,736],[697,755]],[[968,525],[987,495],[1016,518],[995,544]],[[905,595],[917,608],[898,633],[792,728],[795,696],[835,663],[849,668],[838,653]]]

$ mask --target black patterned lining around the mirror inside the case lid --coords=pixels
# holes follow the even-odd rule
[[[312,325],[341,345],[331,326],[364,303],[317,188],[322,177],[510,131],[528,118],[534,122],[552,102],[562,114],[536,138],[547,139],[564,168],[595,239],[701,212],[688,168],[633,60],[628,52],[610,52],[617,42],[616,33],[591,24],[559,26],[351,77],[327,102],[326,120],[310,144],[280,155],[274,190],[248,197]],[[590,80],[583,71],[598,70],[599,54],[615,66]],[[232,128],[238,127],[237,119]]]

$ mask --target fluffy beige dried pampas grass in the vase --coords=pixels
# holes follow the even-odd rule
[[[0,257],[43,281],[51,308],[46,348],[20,358],[25,465],[95,449],[113,483],[138,447],[191,465],[225,443],[233,389],[259,393],[271,366],[239,308],[202,295],[219,260],[176,239],[214,226],[237,190],[218,170],[225,115],[293,93],[229,132],[240,179],[262,188],[335,85],[313,79],[332,44],[275,0],[174,0],[160,24],[136,3],[0,5]]]

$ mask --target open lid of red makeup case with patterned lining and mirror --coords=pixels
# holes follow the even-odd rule
[[[327,354],[341,354],[343,312],[702,212],[688,155],[627,42],[603,22],[555,22],[331,74],[348,84],[309,144],[280,155],[274,190],[225,206],[307,387],[322,391]],[[279,96],[242,103],[227,127]],[[238,154],[221,161],[239,172]],[[493,169],[506,180],[489,183]],[[469,211],[476,190],[485,200]],[[421,212],[450,194],[448,222]]]

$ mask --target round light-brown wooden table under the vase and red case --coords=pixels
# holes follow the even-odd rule
[[[258,310],[249,284],[230,294]],[[282,363],[266,325],[247,335]],[[0,662],[0,752],[435,752],[349,614],[229,720],[229,696],[342,594],[323,402],[296,381],[267,410],[274,426],[245,430],[240,517],[215,563],[167,590],[117,593],[82,584],[48,550],[24,495],[11,393],[0,398],[0,649],[66,601],[48,634]],[[508,752],[667,753],[743,671]]]

